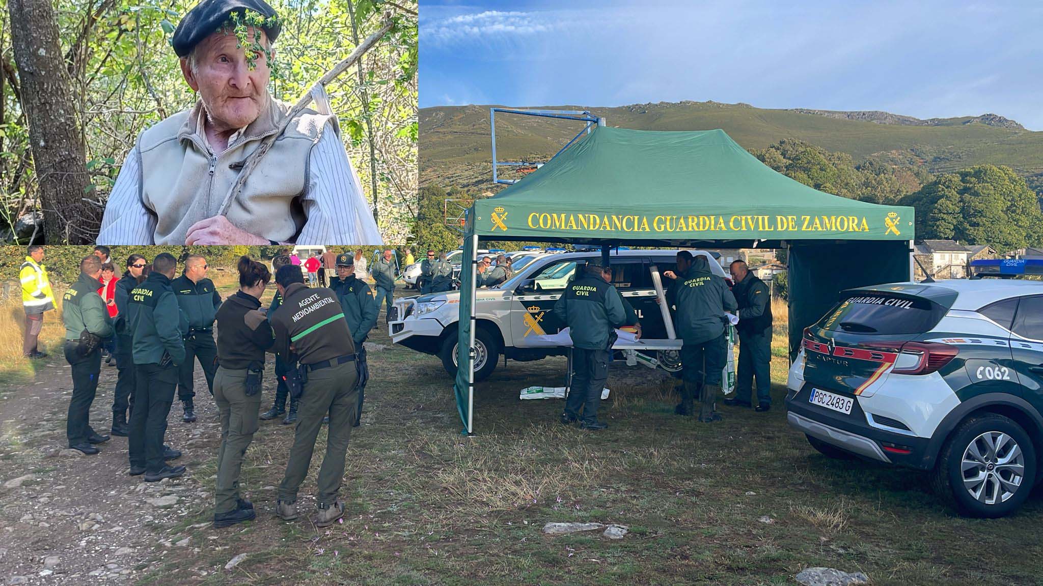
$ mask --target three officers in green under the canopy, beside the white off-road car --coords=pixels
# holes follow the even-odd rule
[[[729,287],[724,277],[710,271],[710,262],[705,254],[681,250],[677,253],[677,270],[663,273],[671,279],[665,297],[675,309],[673,319],[682,341],[681,402],[674,412],[695,415],[698,397],[698,418],[703,423],[722,419],[715,401],[728,361],[726,325],[731,312],[738,317],[735,329],[741,351],[736,396],[724,402],[751,407],[754,377],[756,411],[768,411],[772,400],[769,372],[772,308],[768,287],[743,261],[731,264],[734,285]],[[609,267],[603,266],[601,261],[588,261],[578,267],[577,275],[554,306],[555,316],[569,327],[573,341],[573,376],[561,422],[580,421],[585,430],[608,426],[598,420],[598,407],[608,379],[615,328],[637,323],[633,309],[611,280]],[[660,302],[658,297],[656,302]]]

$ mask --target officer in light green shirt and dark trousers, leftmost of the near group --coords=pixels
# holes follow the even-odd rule
[[[93,444],[108,441],[91,428],[91,404],[101,372],[101,343],[112,338],[113,321],[98,295],[101,260],[95,255],[79,262],[79,278],[63,296],[62,321],[66,327],[65,356],[72,367],[72,400],[66,436],[69,447],[83,454],[100,451]]]

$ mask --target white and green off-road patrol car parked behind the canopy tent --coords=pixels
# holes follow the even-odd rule
[[[710,253],[697,250],[692,253],[707,257],[710,270],[722,277],[727,276]],[[501,356],[510,360],[532,361],[566,352],[564,347],[548,347],[537,337],[556,334],[564,327],[551,310],[564,291],[577,263],[596,259],[601,259],[600,251],[538,253],[535,260],[516,269],[514,275],[502,285],[478,289],[475,381],[488,377]],[[651,268],[655,266],[659,274],[674,270],[677,250],[613,250],[610,262],[612,285],[637,313],[641,340],[665,340],[666,328],[655,302]],[[669,279],[663,280],[665,287]],[[388,318],[391,341],[438,356],[446,372],[455,376],[459,303],[459,291],[396,299]],[[666,349],[655,353],[658,366],[668,371],[680,369],[678,351]]]

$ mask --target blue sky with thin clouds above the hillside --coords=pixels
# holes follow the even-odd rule
[[[420,0],[420,106],[715,100],[1043,130],[1043,2]]]

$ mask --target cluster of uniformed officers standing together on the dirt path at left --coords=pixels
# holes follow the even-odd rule
[[[79,263],[79,278],[64,295],[65,358],[72,367],[69,446],[98,454],[110,440],[90,424],[98,386],[101,347],[115,340],[118,380],[114,392],[112,435],[128,437],[129,473],[146,482],[175,478],[185,466],[172,465],[179,450],[164,444],[174,389],[185,402],[185,421],[195,421],[192,402],[194,363],[203,369],[208,390],[220,412],[221,444],[215,487],[215,527],[253,519],[253,506],[241,497],[239,475],[259,419],[290,401],[296,422],[276,514],[298,516],[297,490],[308,473],[322,423],[330,424],[326,453],[318,474],[316,524],[343,515],[338,498],[353,426],[360,423],[369,377],[363,343],[377,322],[373,291],[355,277],[354,255],[340,254],[330,287],[310,288],[299,266],[287,255],[267,265],[248,257],[238,264],[239,290],[222,299],[203,257],[177,260],[160,253],[151,263],[141,254],[126,261],[116,286],[117,315],[111,318],[98,295],[102,261]],[[276,294],[262,308],[261,297],[274,276]],[[217,340],[214,328],[217,326]],[[275,405],[259,415],[265,352],[275,355]],[[129,417],[127,417],[129,411]]]

